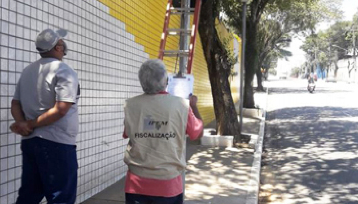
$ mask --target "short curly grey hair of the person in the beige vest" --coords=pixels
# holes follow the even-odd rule
[[[163,91],[166,87],[166,71],[164,63],[159,59],[150,59],[143,63],[138,73],[143,91],[155,94]]]

